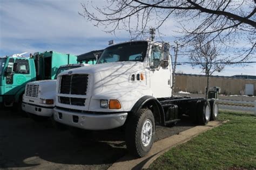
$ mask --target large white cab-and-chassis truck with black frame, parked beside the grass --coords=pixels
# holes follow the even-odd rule
[[[200,124],[214,120],[214,100],[172,96],[169,48],[151,40],[123,42],[105,48],[96,65],[60,73],[55,121],[84,130],[125,126],[128,151],[144,157],[156,125],[176,123],[182,115]]]

